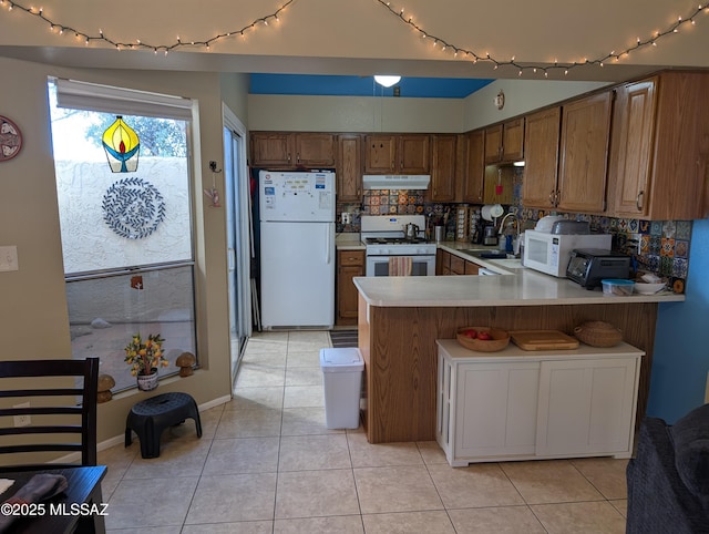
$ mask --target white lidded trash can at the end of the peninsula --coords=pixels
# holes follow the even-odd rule
[[[359,427],[359,398],[364,360],[358,348],[320,349],[328,429]]]

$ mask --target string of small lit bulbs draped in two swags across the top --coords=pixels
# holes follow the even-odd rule
[[[110,38],[107,38],[103,30],[100,29],[99,30],[99,34],[97,35],[90,35],[81,30],[74,29],[70,25],[64,25],[64,24],[60,24],[58,22],[54,22],[52,20],[50,20],[49,18],[47,18],[44,16],[44,11],[42,8],[37,9],[34,7],[25,7],[14,0],[0,0],[0,6],[7,6],[8,11],[12,11],[14,8],[19,9],[20,11],[27,13],[27,14],[31,14],[33,17],[37,17],[41,20],[43,20],[44,22],[47,22],[49,24],[49,28],[51,31],[53,31],[55,28],[59,29],[59,34],[63,35],[64,31],[69,31],[69,32],[73,32],[76,39],[83,39],[84,40],[84,44],[89,45],[92,42],[104,42],[110,44],[112,48],[115,48],[116,50],[123,50],[123,49],[130,49],[130,50],[136,50],[136,49],[147,49],[147,50],[153,50],[155,53],[157,53],[158,51],[163,51],[165,52],[165,55],[167,55],[167,52],[176,50],[176,49],[181,49],[183,47],[204,47],[207,51],[210,50],[210,44],[214,42],[217,42],[222,39],[226,39],[226,38],[230,38],[234,34],[237,35],[242,35],[242,38],[246,38],[245,32],[249,29],[255,30],[257,28],[257,24],[260,22],[263,23],[263,25],[269,25],[268,24],[268,19],[274,19],[276,22],[280,21],[280,13],[288,8],[291,3],[294,3],[296,0],[286,0],[285,3],[282,6],[280,6],[275,12],[267,14],[265,17],[260,17],[256,20],[254,20],[253,22],[246,24],[244,28],[242,28],[240,30],[233,30],[226,33],[219,33],[216,34],[214,37],[212,37],[210,39],[207,39],[205,41],[191,41],[191,42],[183,42],[179,37],[177,37],[177,40],[174,43],[171,44],[151,44],[148,42],[143,42],[140,39],[136,40],[136,44],[134,43],[123,43],[123,42],[119,42],[119,41],[114,41]],[[548,73],[549,71],[553,70],[563,70],[564,71],[564,75],[568,74],[568,71],[572,69],[575,69],[577,66],[583,66],[583,65],[598,65],[598,66],[604,66],[605,62],[608,60],[613,60],[613,61],[620,61],[620,59],[625,59],[627,58],[630,52],[634,52],[640,48],[645,48],[645,47],[657,47],[657,41],[660,40],[661,38],[668,35],[668,34],[674,34],[674,33],[679,33],[679,30],[681,28],[682,24],[689,23],[691,25],[696,24],[696,17],[699,16],[700,13],[709,13],[709,6],[702,6],[699,4],[695,11],[689,16],[689,17],[678,17],[677,21],[671,24],[669,28],[667,28],[664,31],[655,31],[653,33],[653,37],[648,38],[647,40],[643,41],[639,37],[636,39],[635,41],[635,45],[627,48],[626,50],[621,50],[620,52],[610,52],[608,54],[606,54],[603,58],[597,58],[595,60],[588,60],[588,59],[584,59],[584,61],[582,62],[571,62],[571,63],[558,63],[557,60],[554,60],[554,64],[553,65],[548,65],[548,64],[530,64],[530,65],[522,65],[520,63],[516,62],[515,57],[513,55],[512,59],[510,60],[497,60],[495,59],[493,55],[490,54],[490,52],[486,52],[483,55],[479,55],[476,52],[472,51],[472,50],[466,50],[464,48],[458,47],[453,43],[450,43],[448,41],[445,41],[444,39],[436,37],[436,35],[431,35],[430,33],[428,33],[423,28],[421,28],[419,24],[417,24],[415,22],[413,22],[413,17],[411,16],[405,16],[404,17],[404,9],[401,8],[399,10],[395,10],[394,8],[391,7],[391,2],[389,2],[388,0],[376,0],[380,6],[382,6],[384,9],[387,9],[392,16],[394,16],[400,22],[409,25],[411,29],[413,29],[414,31],[419,32],[419,34],[421,35],[422,39],[427,39],[427,38],[431,38],[433,40],[433,47],[434,48],[440,48],[441,51],[445,51],[451,49],[453,52],[453,57],[458,58],[459,54],[463,58],[467,58],[467,59],[472,59],[471,61],[473,63],[477,63],[479,60],[481,61],[487,61],[491,62],[494,65],[494,69],[499,69],[501,66],[513,66],[515,69],[517,69],[518,71],[518,75],[522,75],[522,73],[526,70],[532,70],[534,73],[536,73],[537,71],[542,72],[544,74],[544,78],[548,78]]]

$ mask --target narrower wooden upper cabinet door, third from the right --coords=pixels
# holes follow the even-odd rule
[[[522,181],[524,207],[546,209],[555,206],[561,127],[561,107],[552,107],[526,117],[526,157]]]

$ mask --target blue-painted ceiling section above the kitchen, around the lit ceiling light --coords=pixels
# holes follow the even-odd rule
[[[401,97],[464,99],[492,82],[486,79],[402,76],[394,88],[399,88]],[[394,88],[382,88],[372,76],[255,73],[250,75],[249,93],[392,96]]]

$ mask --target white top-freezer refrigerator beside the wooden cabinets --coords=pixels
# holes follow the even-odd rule
[[[335,324],[335,173],[259,173],[261,327]]]

